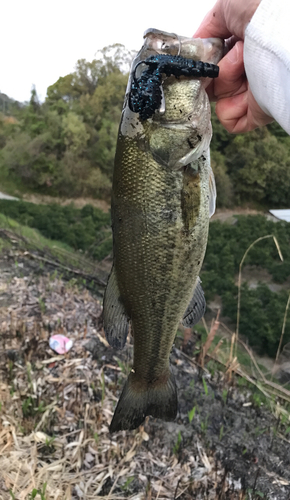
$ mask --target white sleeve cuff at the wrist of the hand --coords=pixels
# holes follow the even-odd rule
[[[290,3],[262,0],[245,31],[245,71],[263,111],[290,134]]]

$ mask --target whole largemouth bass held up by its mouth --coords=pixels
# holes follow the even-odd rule
[[[153,29],[144,38],[132,64],[113,176],[104,329],[110,345],[122,349],[131,322],[134,361],[111,432],[134,429],[146,415],[176,417],[169,356],[180,320],[192,326],[205,311],[199,272],[215,207],[205,88],[207,76],[217,76],[223,42]]]

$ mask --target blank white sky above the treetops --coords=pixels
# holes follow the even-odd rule
[[[139,50],[157,28],[192,36],[215,0],[4,0],[0,7],[0,91],[28,101],[114,43]]]

